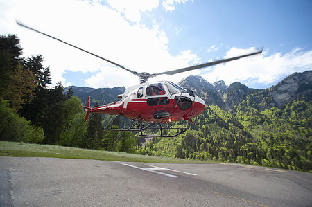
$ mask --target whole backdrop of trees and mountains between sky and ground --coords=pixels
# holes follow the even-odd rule
[[[294,73],[269,89],[249,89],[221,80],[210,84],[189,76],[179,84],[196,89],[207,109],[189,121],[172,123],[189,130],[174,138],[144,138],[107,131],[112,116],[96,114],[84,122],[80,105],[118,100],[124,87],[91,89],[51,87],[42,55],[21,57],[16,35],[0,38],[0,139],[122,151],[182,159],[272,166],[312,172],[312,71]],[[77,97],[78,96],[78,97]],[[117,119],[114,127],[125,120]]]

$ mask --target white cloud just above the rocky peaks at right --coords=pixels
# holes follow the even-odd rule
[[[255,48],[231,48],[227,51],[225,58],[253,51],[255,51]],[[262,55],[254,55],[226,64],[219,64],[205,69],[204,73],[205,71],[208,73],[205,73],[202,77],[209,82],[224,80],[229,85],[232,82],[239,81],[252,86],[255,84],[272,84],[286,75],[311,70],[311,68],[312,50],[303,51],[300,48],[294,48],[284,55],[275,53],[266,57],[266,51],[264,51]]]

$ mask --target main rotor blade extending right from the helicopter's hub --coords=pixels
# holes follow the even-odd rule
[[[243,57],[248,57],[250,55],[257,55],[257,54],[260,54],[260,53],[262,53],[262,50],[254,52],[254,53],[249,53],[249,54],[246,54],[246,55],[237,56],[237,57],[231,57],[231,58],[227,58],[227,59],[223,59],[223,60],[217,60],[217,61],[214,61],[214,62],[207,62],[207,63],[204,63],[204,64],[198,64],[198,65],[194,65],[194,66],[189,66],[189,67],[183,68],[183,69],[177,69],[177,70],[173,70],[173,71],[165,71],[165,72],[162,72],[162,73],[154,73],[154,74],[150,74],[149,77],[152,78],[152,77],[155,77],[157,75],[164,75],[164,74],[165,75],[174,75],[174,74],[177,74],[177,73],[183,73],[183,72],[192,71],[192,70],[195,70],[195,69],[202,69],[202,68],[205,68],[207,66],[220,64],[220,63],[223,63],[223,62],[229,62],[229,61],[232,61],[232,60],[238,60],[238,59],[243,58]]]

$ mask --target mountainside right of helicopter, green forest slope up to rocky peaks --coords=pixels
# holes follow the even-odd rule
[[[154,138],[138,152],[311,172],[311,74],[295,73],[264,90],[239,82],[216,89],[188,77],[180,84],[196,89],[209,106],[193,118],[196,124],[173,124],[189,127],[185,134]]]

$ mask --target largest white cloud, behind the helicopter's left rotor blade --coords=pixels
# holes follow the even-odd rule
[[[158,1],[108,1],[110,6],[99,2],[0,2],[3,10],[7,11],[5,15],[0,15],[0,21],[7,24],[3,29],[5,33],[16,33],[21,39],[24,57],[43,55],[44,66],[50,66],[53,84],[60,81],[64,85],[70,84],[62,77],[65,71],[96,74],[82,83],[91,87],[127,87],[137,84],[139,78],[92,55],[21,28],[15,24],[15,19],[133,71],[155,73],[189,66],[198,60],[191,51],[171,55],[168,52],[168,37],[159,24],[154,21],[153,27],[148,28],[140,23],[140,12],[153,10]]]

